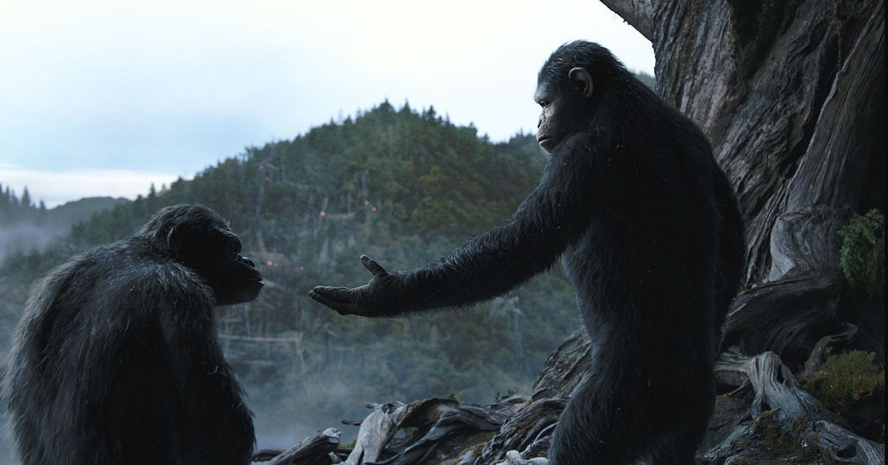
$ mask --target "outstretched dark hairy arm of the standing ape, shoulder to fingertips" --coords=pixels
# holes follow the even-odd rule
[[[472,238],[438,263],[406,273],[389,273],[362,256],[361,263],[373,273],[367,285],[317,286],[310,295],[344,315],[380,317],[465,305],[505,293],[551,267],[588,228],[592,190],[602,182],[593,167],[597,158],[595,148],[566,140],[540,184],[507,223]]]

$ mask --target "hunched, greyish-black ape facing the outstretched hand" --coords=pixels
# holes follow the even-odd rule
[[[213,307],[262,275],[202,205],[164,208],[34,286],[6,376],[21,461],[246,464],[255,443]]]

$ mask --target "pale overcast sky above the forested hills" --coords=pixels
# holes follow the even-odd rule
[[[580,38],[654,72],[594,0],[0,0],[0,183],[49,206],[133,197],[386,98],[506,140]]]

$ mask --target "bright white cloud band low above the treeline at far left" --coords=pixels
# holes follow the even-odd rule
[[[165,172],[131,170],[83,170],[53,172],[28,170],[0,163],[0,183],[9,186],[17,196],[28,187],[35,203],[43,200],[48,208],[70,200],[91,196],[112,196],[134,199],[146,195],[151,184],[160,190],[178,176]]]

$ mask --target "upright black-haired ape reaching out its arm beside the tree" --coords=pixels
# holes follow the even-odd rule
[[[690,120],[607,49],[562,45],[543,65],[537,140],[551,159],[503,226],[426,268],[312,297],[368,317],[490,299],[563,257],[593,343],[561,414],[554,464],[695,463],[714,404],[718,327],[745,247],[733,189]]]

